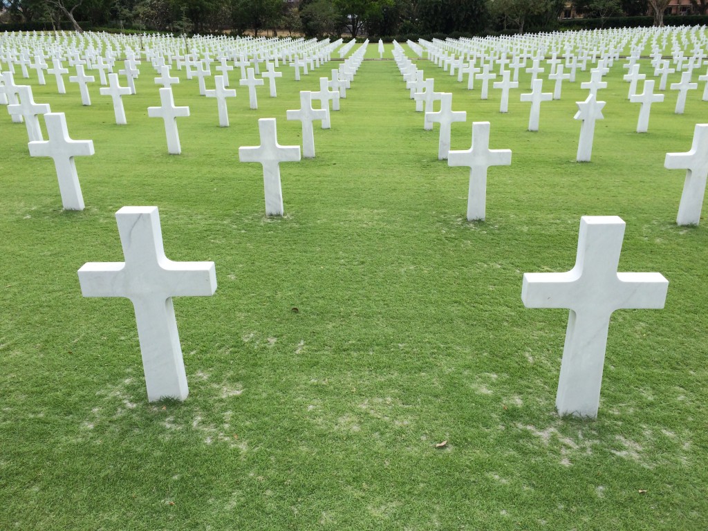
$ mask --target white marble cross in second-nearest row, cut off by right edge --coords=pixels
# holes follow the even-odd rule
[[[686,181],[683,185],[676,223],[697,225],[701,219],[708,176],[708,124],[696,124],[690,151],[667,153],[664,167],[670,170],[686,170]]]

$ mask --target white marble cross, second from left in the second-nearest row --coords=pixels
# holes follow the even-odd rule
[[[239,161],[258,162],[263,165],[263,186],[265,188],[265,215],[282,216],[282,188],[280,186],[280,163],[297,162],[300,159],[299,146],[278,144],[275,118],[258,120],[261,145],[239,147]]]

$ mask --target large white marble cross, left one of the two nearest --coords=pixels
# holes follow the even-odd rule
[[[165,256],[157,207],[115,213],[125,262],[89,262],[79,269],[84,297],[127,297],[135,309],[148,401],[189,394],[172,297],[214,295],[214,262]]]

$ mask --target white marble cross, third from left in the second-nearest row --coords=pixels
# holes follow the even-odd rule
[[[510,149],[489,149],[489,122],[472,122],[472,147],[447,154],[447,166],[469,166],[467,220],[486,217],[486,175],[489,166],[509,166]]]

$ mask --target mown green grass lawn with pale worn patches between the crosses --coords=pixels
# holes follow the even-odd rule
[[[708,122],[703,84],[683,115],[666,91],[638,134],[615,62],[578,164],[589,71],[532,133],[529,74],[501,114],[500,91],[481,101],[418,63],[467,110],[452,149],[488,120],[490,147],[513,152],[489,170],[485,222],[465,219],[469,169],[438,161],[393,60],[362,64],[315,159],[281,165],[282,218],[265,217],[261,166],[238,148],[258,145],[258,118],[298,144],[285,110],[338,62],[300,82],[282,67],[258,110],[236,86],[228,128],[179,72],[179,156],[147,117],[147,62],[125,126],[98,84],[84,107],[68,76],[60,96],[18,69],[96,154],[76,159],[86,210],[64,212],[52,160],[0,117],[0,529],[708,528],[708,219],[675,224],[685,171],[663,168]],[[147,402],[130,302],[81,297],[81,265],[123,259],[125,205],[159,207],[172,260],[216,263],[213,297],[174,301],[183,403]],[[568,312],[520,299],[523,273],[572,268],[582,215],[622,217],[619,270],[670,282],[665,309],[612,316],[596,421],[555,413]]]

